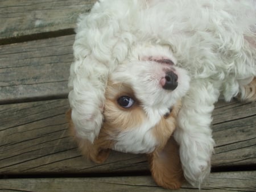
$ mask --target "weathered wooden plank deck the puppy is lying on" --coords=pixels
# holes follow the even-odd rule
[[[0,2],[2,191],[167,191],[150,177],[144,155],[112,152],[97,165],[69,136],[73,28],[94,2]],[[213,169],[201,191],[256,191],[256,102],[218,102],[212,127]]]

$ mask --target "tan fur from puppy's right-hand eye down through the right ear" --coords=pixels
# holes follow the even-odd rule
[[[179,146],[171,136],[176,128],[176,118],[181,102],[172,108],[171,114],[163,117],[152,130],[159,147],[148,155],[152,177],[159,186],[179,189],[185,181],[179,157]]]

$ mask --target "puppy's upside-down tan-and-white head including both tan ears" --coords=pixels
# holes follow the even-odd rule
[[[94,142],[79,137],[71,122],[72,135],[82,153],[95,162],[105,161],[109,149],[148,154],[158,185],[177,189],[183,182],[183,172],[177,144],[170,137],[189,77],[175,66],[170,50],[156,48],[137,46],[127,61],[109,74],[104,120]]]

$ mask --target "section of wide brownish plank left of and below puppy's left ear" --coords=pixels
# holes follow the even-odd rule
[[[112,153],[97,165],[69,137],[67,99],[0,106],[0,173],[92,173],[148,170],[141,155]]]

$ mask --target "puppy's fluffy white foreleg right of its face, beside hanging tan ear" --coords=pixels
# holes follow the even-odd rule
[[[214,147],[210,123],[218,95],[218,90],[208,82],[191,82],[177,117],[179,128],[175,131],[175,139],[180,145],[184,176],[197,187],[210,173]]]

